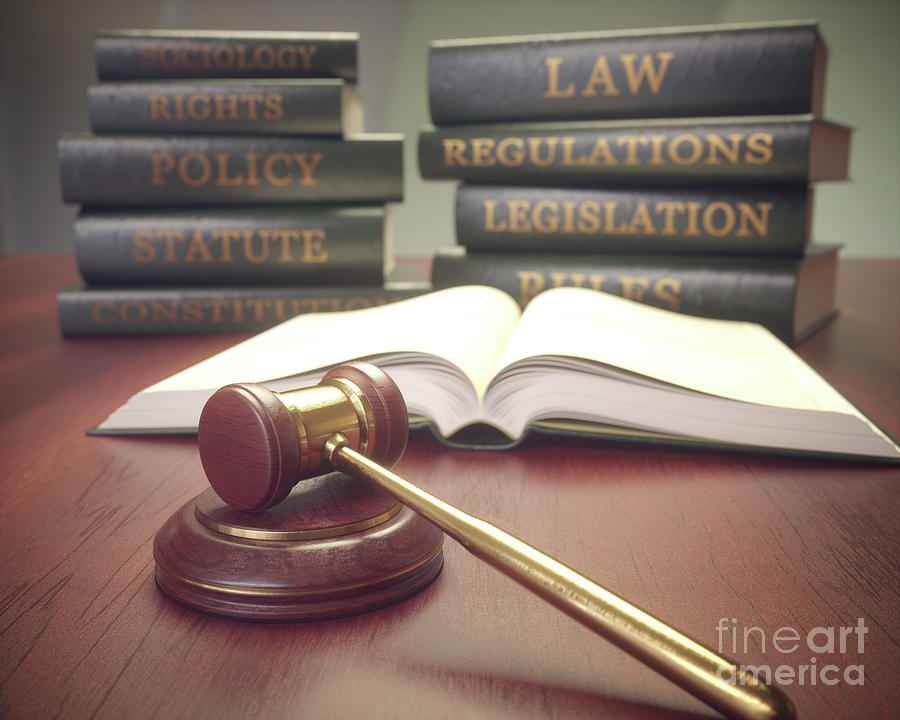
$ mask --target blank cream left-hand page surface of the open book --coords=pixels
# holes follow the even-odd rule
[[[354,358],[418,352],[444,358],[480,398],[519,320],[506,293],[458,287],[377,308],[300,315],[193,365],[145,392],[265,382]]]

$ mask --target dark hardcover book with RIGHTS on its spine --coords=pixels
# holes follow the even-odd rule
[[[345,135],[362,102],[343,80],[165,80],[88,88],[96,133]]]

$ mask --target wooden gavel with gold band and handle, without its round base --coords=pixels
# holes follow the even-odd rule
[[[235,384],[203,409],[199,447],[215,493],[258,513],[305,478],[338,469],[426,518],[469,552],[728,717],[794,717],[790,700],[732,661],[686,637],[494,525],[388,470],[409,434],[406,403],[381,369],[351,363],[315,387],[274,392]]]

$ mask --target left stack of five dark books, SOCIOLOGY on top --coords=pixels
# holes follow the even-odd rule
[[[58,146],[85,281],[66,335],[258,330],[385,284],[402,137],[362,134],[356,33],[104,31]]]

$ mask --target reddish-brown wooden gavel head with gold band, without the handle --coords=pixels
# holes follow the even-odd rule
[[[222,500],[260,512],[284,500],[299,480],[333,470],[324,452],[336,433],[379,465],[391,467],[400,459],[409,418],[387,373],[348,363],[301,390],[226,385],[200,415],[200,460]]]

